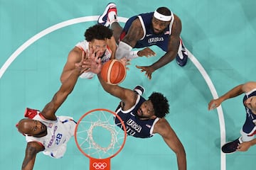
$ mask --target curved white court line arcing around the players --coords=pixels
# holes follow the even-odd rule
[[[27,47],[33,44],[33,42],[36,42],[36,40],[42,38],[48,33],[51,33],[55,30],[58,30],[66,26],[70,26],[76,23],[88,22],[88,21],[97,21],[98,17],[99,16],[85,16],[80,18],[74,18],[68,21],[63,21],[62,23],[55,24],[54,26],[46,28],[45,30],[42,30],[40,33],[34,35],[32,38],[24,42],[23,45],[18,47],[18,49],[8,58],[8,60],[6,60],[6,62],[0,69],[0,79],[3,76],[3,74],[6,72],[6,69],[8,69],[11,63],[14,62],[16,57],[18,57],[18,55],[20,55],[21,52],[23,52],[23,50],[26,50]],[[122,23],[126,23],[127,19],[128,18],[118,17],[118,20]],[[203,68],[200,62],[198,62],[196,57],[194,57],[189,51],[188,51],[188,58],[191,60],[191,62],[193,62],[193,64],[198,68],[199,72],[202,74],[203,78],[205,79],[210,89],[211,94],[213,95],[213,98],[218,98],[218,94],[215,90],[215,87],[213,86],[213,82],[210,80],[210,77],[208,76],[206,70]],[[221,106],[217,108],[217,112],[218,112],[218,119],[220,123],[220,146],[222,146],[225,143],[225,121],[224,121],[223,110]],[[225,170],[225,169],[226,169],[225,154],[223,154],[223,152],[220,152],[220,170]]]

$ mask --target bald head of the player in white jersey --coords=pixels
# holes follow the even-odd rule
[[[21,132],[23,135],[42,137],[47,134],[46,125],[38,120],[23,118],[17,123],[16,127],[18,132]]]

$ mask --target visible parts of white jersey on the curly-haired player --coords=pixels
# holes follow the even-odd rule
[[[84,40],[82,42],[78,42],[78,44],[75,45],[75,47],[79,47],[83,51],[86,51],[86,50],[90,51],[89,42],[87,42],[86,40]],[[112,51],[110,50],[110,47],[107,46],[107,50],[105,51],[104,55],[101,58],[102,64],[104,64],[105,62],[110,60],[111,54],[112,54]],[[80,78],[92,79],[92,77],[94,77],[94,76],[95,76],[95,73],[93,73],[93,72],[84,72],[80,75]]]

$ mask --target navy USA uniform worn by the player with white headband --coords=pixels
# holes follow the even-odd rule
[[[143,31],[144,31],[144,35],[143,35],[143,38],[141,40],[137,41],[137,44],[135,45],[134,48],[142,48],[142,47],[149,47],[151,45],[157,45],[158,47],[161,48],[161,50],[164,50],[165,52],[167,52],[169,38],[170,38],[170,35],[171,35],[171,27],[172,27],[172,24],[174,23],[174,16],[171,13],[171,15],[172,15],[171,23],[163,31],[163,33],[155,34],[154,30],[152,28],[152,23],[151,23],[153,15],[154,15],[154,12],[142,13],[142,14],[139,14],[138,16],[132,16],[132,18],[129,18],[127,23],[125,23],[123,32],[125,34],[127,34],[130,26],[132,25],[132,22],[136,18],[139,18],[139,21],[142,23],[142,28],[143,28]],[[122,40],[122,37],[121,37],[121,40]]]

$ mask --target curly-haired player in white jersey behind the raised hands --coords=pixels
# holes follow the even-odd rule
[[[75,69],[75,63],[80,62],[82,52],[94,50],[99,52],[102,62],[114,59],[114,52],[117,48],[116,42],[112,37],[110,28],[102,25],[95,25],[85,30],[85,40],[79,42],[68,54],[68,60],[65,63],[60,81],[63,83]],[[91,79],[94,76],[92,72],[81,74],[81,78]]]

